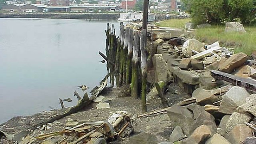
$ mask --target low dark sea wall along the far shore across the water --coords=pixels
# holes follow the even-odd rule
[[[87,19],[117,20],[118,13],[74,13],[74,12],[40,12],[40,13],[0,13],[0,18],[52,18],[52,19]]]

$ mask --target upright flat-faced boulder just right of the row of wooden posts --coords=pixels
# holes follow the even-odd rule
[[[167,63],[164,61],[162,54],[155,54],[153,56],[153,65],[155,70],[156,80],[168,82]]]

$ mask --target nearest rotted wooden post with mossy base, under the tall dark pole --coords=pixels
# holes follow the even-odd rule
[[[147,111],[146,104],[146,87],[147,87],[147,31],[142,30],[140,34],[140,57],[141,57],[141,72],[142,72],[142,92],[141,92],[141,104],[142,112]]]

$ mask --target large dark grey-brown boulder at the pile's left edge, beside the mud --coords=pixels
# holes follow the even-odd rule
[[[172,126],[181,126],[184,134],[190,135],[190,128],[194,122],[193,114],[187,108],[174,105],[166,111]]]

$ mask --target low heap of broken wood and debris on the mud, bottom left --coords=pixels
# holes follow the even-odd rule
[[[108,140],[125,138],[133,132],[132,116],[125,111],[111,112],[108,120],[86,122],[68,118],[65,124],[54,121],[38,127],[36,130],[24,130],[16,135],[2,131],[9,142],[20,144],[106,144]],[[59,131],[47,131],[51,127],[65,126]]]

